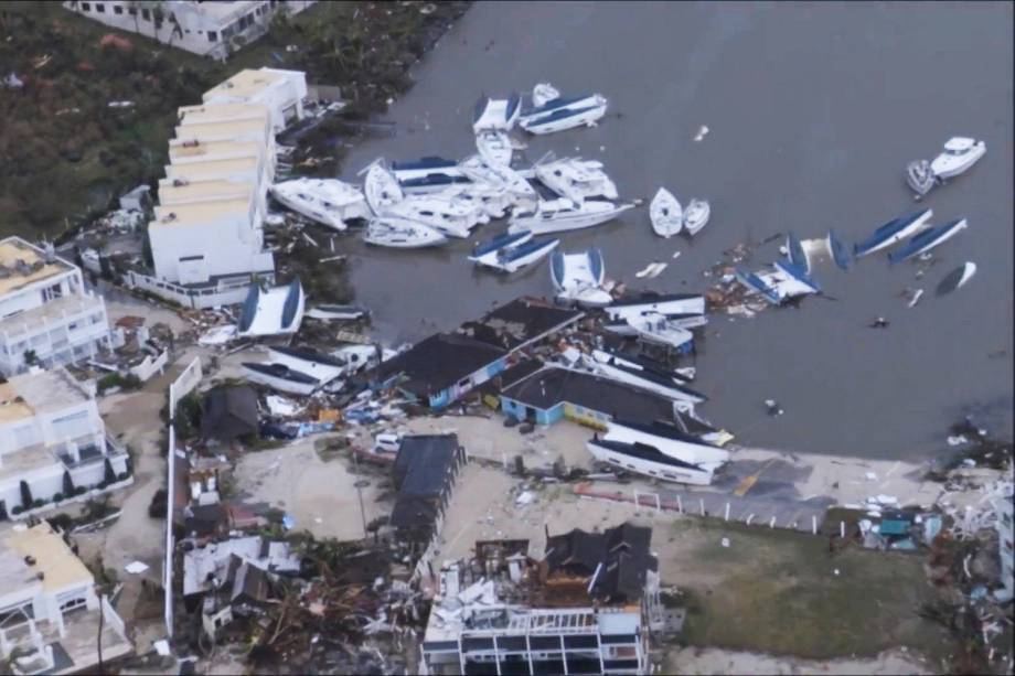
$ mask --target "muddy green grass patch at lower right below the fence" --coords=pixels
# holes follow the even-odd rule
[[[858,548],[833,557],[824,538],[697,519],[677,522],[673,537],[679,561],[662,566],[687,594],[691,645],[815,659],[948,651],[941,627],[918,615],[934,595],[920,557]]]

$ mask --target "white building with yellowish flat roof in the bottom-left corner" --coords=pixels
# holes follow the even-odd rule
[[[0,540],[0,670],[81,673],[129,654],[124,621],[95,591],[92,572],[43,522]],[[4,668],[4,663],[6,667]]]

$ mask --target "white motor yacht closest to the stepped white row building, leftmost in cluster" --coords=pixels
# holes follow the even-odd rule
[[[370,217],[360,189],[336,179],[293,179],[276,183],[269,191],[286,207],[336,230],[344,230],[348,221]]]

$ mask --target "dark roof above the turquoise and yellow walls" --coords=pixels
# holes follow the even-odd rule
[[[567,401],[611,418],[643,422],[673,420],[673,401],[666,397],[609,378],[556,366],[543,368],[501,394],[541,409]]]

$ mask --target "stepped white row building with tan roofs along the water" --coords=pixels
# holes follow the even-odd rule
[[[302,73],[241,71],[179,111],[170,163],[148,226],[154,275],[135,287],[193,308],[242,302],[275,278],[263,224],[275,180],[275,132],[303,115]]]

